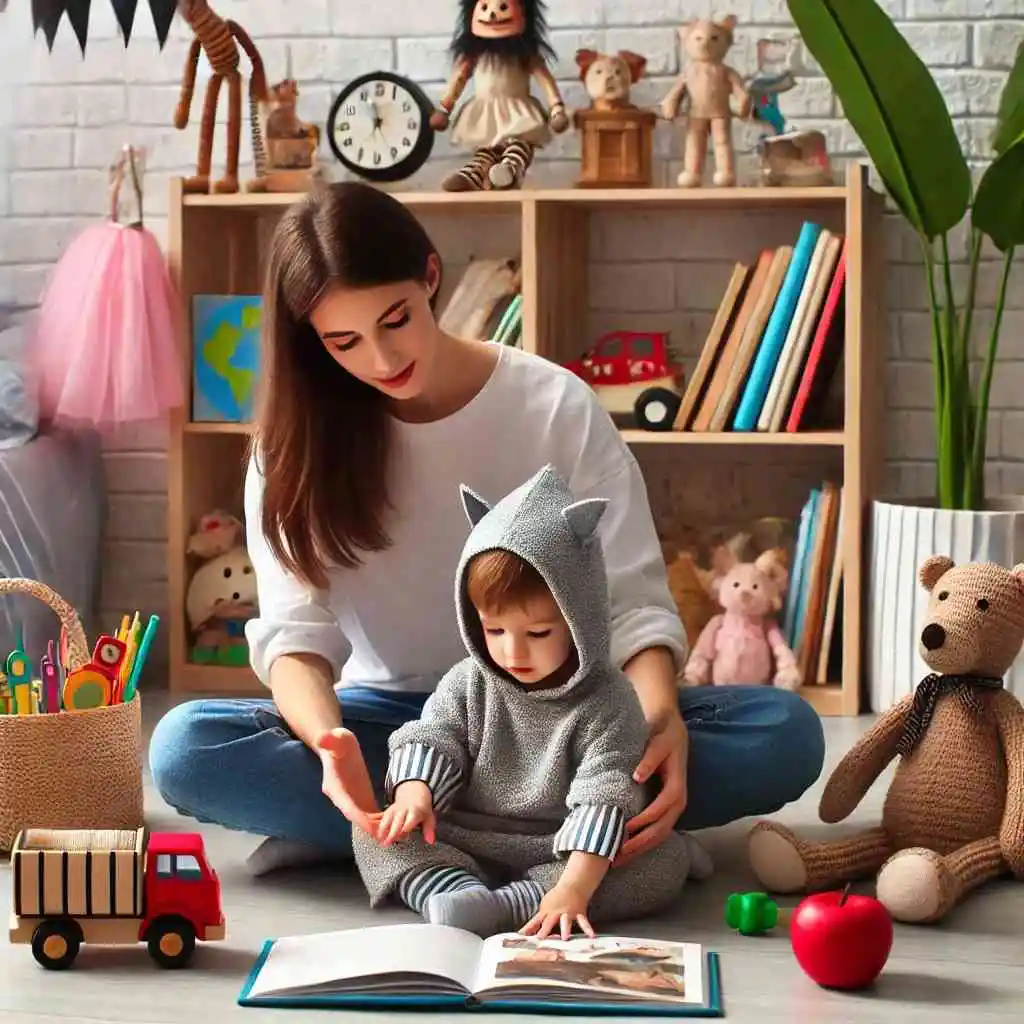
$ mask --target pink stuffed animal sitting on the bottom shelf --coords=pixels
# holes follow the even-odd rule
[[[785,566],[772,551],[716,574],[713,591],[725,610],[701,631],[684,681],[691,686],[774,683],[797,689],[800,668],[774,618],[787,582]]]

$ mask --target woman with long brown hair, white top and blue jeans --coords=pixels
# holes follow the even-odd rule
[[[815,712],[772,687],[677,689],[686,635],[632,453],[571,373],[440,331],[440,282],[423,227],[369,185],[322,188],[282,217],[245,484],[259,592],[247,637],[269,699],[194,700],[158,723],[151,765],[164,799],[266,837],[257,871],[349,856],[342,723],[381,794],[388,735],[465,655],[459,485],[499,499],[546,463],[581,498],[610,502],[612,654],[650,723],[637,777],[660,780],[621,860],[674,827],[797,799],[823,761]]]

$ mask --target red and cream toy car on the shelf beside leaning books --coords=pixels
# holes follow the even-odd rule
[[[564,364],[612,415],[633,414],[646,430],[671,430],[683,369],[673,361],[666,332],[614,331],[583,358]]]

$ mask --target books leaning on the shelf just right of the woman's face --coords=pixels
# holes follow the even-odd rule
[[[521,345],[521,289],[517,259],[471,260],[441,313],[441,330],[463,338]]]

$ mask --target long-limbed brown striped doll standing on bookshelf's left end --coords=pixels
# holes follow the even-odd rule
[[[178,0],[178,10],[193,30],[194,38],[185,58],[181,78],[181,96],[174,111],[174,127],[179,131],[188,125],[196,73],[202,50],[209,61],[211,75],[203,99],[203,119],[199,129],[199,158],[196,174],[184,180],[186,193],[210,191],[210,168],[213,157],[213,129],[217,119],[220,87],[227,80],[227,160],[224,176],[214,182],[215,193],[239,190],[239,145],[242,130],[242,73],[239,71],[239,46],[252,63],[249,77],[249,115],[252,129],[253,159],[256,179],[247,184],[249,191],[261,191],[266,186],[266,153],[259,124],[260,104],[269,101],[263,59],[256,44],[240,25],[215,14],[206,0]]]

